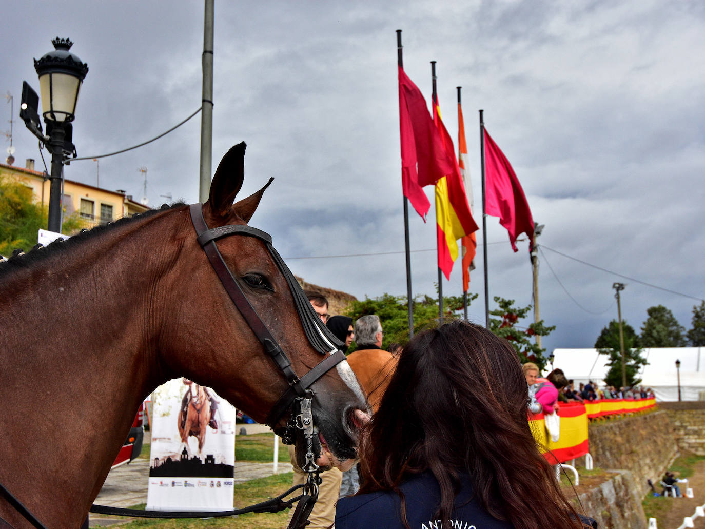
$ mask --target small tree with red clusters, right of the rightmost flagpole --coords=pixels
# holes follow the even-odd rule
[[[537,346],[533,338],[537,335],[548,336],[556,329],[556,326],[547,326],[544,324],[544,320],[540,320],[538,323],[529,324],[528,327],[519,327],[519,321],[527,317],[532,305],[515,307],[513,299],[505,299],[500,296],[494,296],[494,302],[497,303],[498,308],[490,311],[491,315],[497,316],[489,320],[491,332],[507,339],[512,344],[521,363],[533,362],[543,370],[546,366],[546,358],[543,354],[546,349]]]

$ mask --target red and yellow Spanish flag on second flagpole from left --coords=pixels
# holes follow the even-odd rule
[[[477,230],[467,203],[465,185],[460,177],[460,168],[455,161],[453,140],[441,121],[441,110],[434,97],[434,123],[441,133],[447,157],[453,160],[452,166],[436,181],[436,241],[438,243],[439,268],[450,279],[453,262],[458,258],[458,239]]]

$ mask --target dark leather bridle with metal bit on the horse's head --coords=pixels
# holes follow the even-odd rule
[[[331,334],[329,329],[321,323],[321,320],[319,320],[308,299],[302,292],[298,281],[296,281],[291,271],[271,245],[271,236],[269,236],[268,233],[244,224],[228,224],[226,226],[209,229],[203,218],[201,206],[200,203],[190,205],[191,221],[196,230],[197,241],[206,253],[208,260],[211,262],[223,287],[225,287],[228,296],[233,300],[235,307],[237,307],[240,314],[243,315],[245,322],[247,322],[252,332],[255,333],[257,339],[262,343],[262,346],[264,346],[264,351],[274,360],[274,363],[279,370],[281,370],[289,384],[289,388],[278,399],[264,423],[274,430],[275,425],[279,422],[284,413],[295,404],[295,407],[298,408],[298,413],[297,410],[293,410],[292,417],[288,420],[286,428],[279,428],[278,431],[275,431],[281,435],[282,441],[285,444],[293,444],[295,432],[297,430],[303,430],[304,437],[307,441],[307,454],[305,468],[302,468],[302,470],[305,472],[313,472],[317,470],[318,466],[314,461],[312,453],[314,425],[311,401],[313,398],[313,390],[310,389],[310,387],[320,377],[325,375],[326,372],[345,360],[345,353],[339,351],[339,347],[342,343],[340,343],[338,339]],[[294,298],[294,305],[298,311],[309,342],[319,353],[331,353],[330,355],[326,355],[324,360],[300,378],[295,374],[291,366],[291,361],[286,353],[277,343],[276,339],[274,339],[274,336],[271,335],[266,324],[262,322],[262,318],[259,317],[255,308],[253,308],[247,300],[243,289],[240,287],[240,284],[238,284],[238,281],[235,280],[230,269],[228,269],[228,265],[226,265],[223,256],[216,246],[215,241],[217,239],[232,235],[255,237],[264,242],[266,249],[269,251],[279,271],[286,278]]]

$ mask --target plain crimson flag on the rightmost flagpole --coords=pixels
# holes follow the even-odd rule
[[[520,233],[529,236],[529,250],[534,238],[534,219],[524,190],[509,160],[484,129],[485,211],[499,217],[499,224],[509,231],[509,242],[517,252],[515,241]]]

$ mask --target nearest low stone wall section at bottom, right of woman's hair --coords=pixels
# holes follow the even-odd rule
[[[642,509],[642,494],[634,487],[634,477],[628,470],[593,489],[579,494],[582,509],[595,518],[600,529],[645,529],[646,516]],[[577,506],[578,512],[582,512]]]

